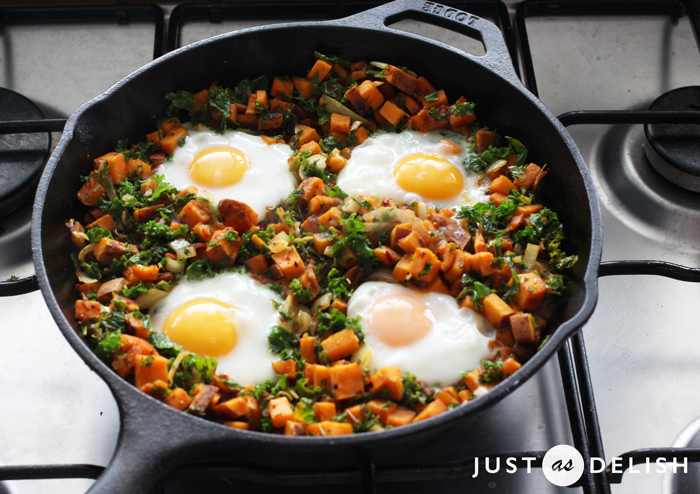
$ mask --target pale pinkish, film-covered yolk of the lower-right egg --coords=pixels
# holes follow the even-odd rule
[[[370,307],[365,324],[377,339],[391,347],[408,346],[423,338],[435,316],[418,297],[385,295]]]

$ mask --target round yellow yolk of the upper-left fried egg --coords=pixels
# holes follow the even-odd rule
[[[226,187],[238,183],[250,168],[250,160],[239,149],[214,147],[194,157],[190,176],[199,185]]]

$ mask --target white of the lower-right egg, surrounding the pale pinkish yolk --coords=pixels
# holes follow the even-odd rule
[[[375,337],[364,321],[369,318],[374,302],[386,295],[419,295],[435,316],[432,330],[403,347],[389,346]],[[449,295],[372,281],[355,290],[347,312],[349,317],[361,317],[366,348],[360,351],[364,354],[371,352],[371,372],[383,367],[398,367],[402,373],[415,374],[428,385],[447,386],[457,382],[463,372],[476,369],[482,360],[493,355],[488,344],[495,334],[494,329],[475,311],[460,309],[455,298]]]

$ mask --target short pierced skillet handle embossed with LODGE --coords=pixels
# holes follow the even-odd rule
[[[481,41],[486,50],[483,56],[479,57],[459,51],[464,56],[486,65],[501,77],[520,84],[500,29],[492,22],[462,10],[425,0],[396,0],[346,17],[338,23],[394,32],[386,25],[403,19],[424,21]],[[458,50],[458,48],[451,48]]]

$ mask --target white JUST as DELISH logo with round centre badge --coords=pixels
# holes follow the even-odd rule
[[[525,463],[526,472],[532,473],[532,464],[537,458],[535,457],[522,457],[520,458],[521,463]],[[485,473],[495,474],[501,471],[500,458],[495,459],[495,464],[489,461],[489,458],[485,459]],[[509,457],[505,459],[505,472],[515,473],[518,471],[517,466],[518,458]],[[589,465],[589,470],[591,473],[601,473],[605,471],[607,465],[605,460],[598,457],[591,457],[591,464]],[[651,473],[651,465],[655,464],[654,471],[656,473],[666,473],[672,471],[673,473],[688,473],[688,458],[683,458],[682,463],[678,462],[677,458],[658,458],[652,462],[650,458],[646,459],[643,465],[646,468],[635,469],[632,458],[629,458],[629,468],[626,470],[627,473]],[[672,463],[671,467],[668,467],[666,463]],[[612,473],[622,473],[624,471],[623,459],[620,457],[613,458],[610,468]],[[542,473],[545,478],[549,480],[552,484],[559,487],[568,487],[575,484],[583,475],[585,469],[585,462],[581,453],[567,444],[560,444],[554,446],[552,449],[547,451],[542,459]],[[476,478],[481,475],[482,472],[479,471],[479,458],[474,459],[474,474],[472,478]]]

